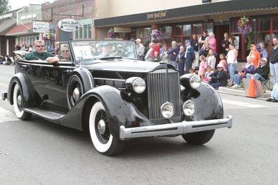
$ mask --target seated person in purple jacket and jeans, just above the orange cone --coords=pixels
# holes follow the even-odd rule
[[[235,85],[233,85],[231,88],[238,89],[240,81],[243,80],[243,78],[246,78],[247,74],[252,74],[255,71],[254,64],[252,63],[252,57],[247,57],[246,64],[243,64],[243,66],[240,68],[240,71],[238,71],[237,74],[234,76],[234,82]]]

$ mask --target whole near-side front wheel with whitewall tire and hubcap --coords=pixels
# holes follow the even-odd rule
[[[92,106],[89,119],[89,130],[92,143],[98,152],[104,155],[115,155],[124,147],[124,141],[112,136],[108,117],[101,102]]]

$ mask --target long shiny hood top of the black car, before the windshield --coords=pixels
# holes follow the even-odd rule
[[[86,66],[89,70],[97,71],[128,71],[128,72],[149,72],[160,68],[159,62],[145,62],[138,60],[97,60],[94,64]]]

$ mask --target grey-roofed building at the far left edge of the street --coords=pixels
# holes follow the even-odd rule
[[[17,24],[17,11],[6,12],[0,16],[0,55],[13,55],[15,36],[6,36],[6,33]]]

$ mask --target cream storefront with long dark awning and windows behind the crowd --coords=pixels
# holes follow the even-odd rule
[[[201,35],[204,30],[215,33],[218,53],[225,32],[236,37],[238,58],[248,55],[248,43],[264,42],[270,53],[272,38],[278,37],[278,1],[146,1],[134,5],[128,0],[97,1],[95,35],[97,39],[122,37],[142,39],[143,44],[151,41],[154,26],[163,28],[163,43],[170,46],[172,40],[184,42],[193,34]],[[238,19],[250,17],[252,33],[246,37],[238,30]],[[115,30],[125,30],[117,33]],[[128,31],[129,30],[129,31]]]

